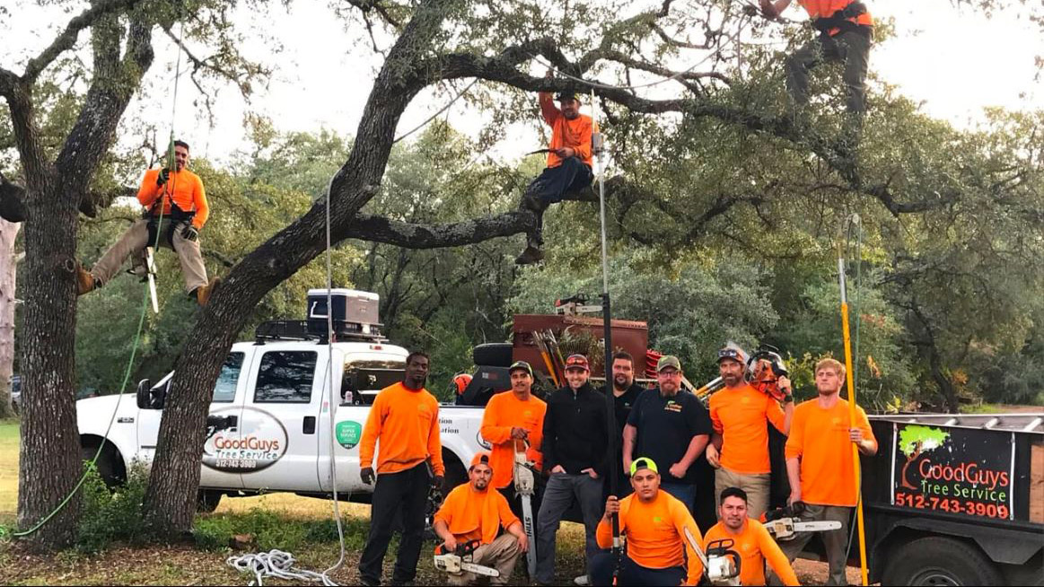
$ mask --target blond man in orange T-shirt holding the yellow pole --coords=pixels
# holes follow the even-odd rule
[[[856,406],[856,425],[850,426],[848,402],[840,399],[845,366],[825,358],[815,366],[818,397],[804,401],[793,413],[786,441],[786,471],[790,479],[790,503],[805,502],[803,521],[838,521],[839,530],[820,533],[830,563],[827,585],[846,585],[849,519],[858,498],[852,443],[862,454],[877,453],[877,440],[870,420]],[[811,538],[798,533],[782,544],[790,560]]]

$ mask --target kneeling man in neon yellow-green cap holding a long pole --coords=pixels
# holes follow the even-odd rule
[[[696,543],[703,541],[692,514],[677,497],[660,490],[660,471],[647,456],[631,464],[631,487],[635,492],[606,500],[606,514],[598,523],[598,546],[613,545],[612,516],[620,517],[620,534],[626,537],[626,553],[620,561],[618,585],[695,585],[704,572],[699,557],[686,539],[688,531]],[[688,564],[686,564],[686,557]],[[595,585],[613,584],[611,551],[599,553],[592,565]]]

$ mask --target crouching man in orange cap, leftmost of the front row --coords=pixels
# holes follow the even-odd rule
[[[498,491],[490,491],[493,469],[489,452],[475,454],[468,477],[468,484],[457,486],[446,496],[432,525],[448,553],[458,544],[478,540],[481,545],[475,549],[472,561],[500,571],[500,577],[490,578],[490,583],[506,585],[519,556],[529,548],[529,541],[507,499]],[[498,537],[501,527],[505,534]],[[461,572],[450,574],[449,583],[470,585],[477,579],[473,572]]]

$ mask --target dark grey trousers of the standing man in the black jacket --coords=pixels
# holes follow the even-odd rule
[[[593,479],[584,473],[551,473],[544,488],[544,498],[537,514],[537,582],[551,584],[554,582],[554,544],[555,535],[562,516],[573,504],[573,499],[579,502],[584,514],[585,546],[587,554],[588,574],[591,573],[591,562],[598,554],[598,542],[594,538],[598,520],[604,512],[604,501],[601,498],[601,479]]]

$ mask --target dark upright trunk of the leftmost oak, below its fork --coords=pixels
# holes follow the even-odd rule
[[[27,182],[18,483],[18,525],[23,531],[58,507],[82,469],[73,390],[76,290],[70,253],[76,250],[76,205],[58,189],[53,168],[47,166],[40,173],[43,168],[32,173],[37,182]],[[27,170],[27,178],[32,174]],[[74,496],[27,540],[40,550],[68,546],[75,538],[78,516],[79,498]]]

